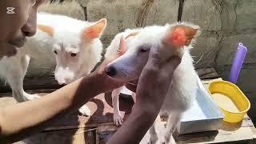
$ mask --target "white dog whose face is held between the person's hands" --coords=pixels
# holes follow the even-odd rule
[[[151,46],[165,47],[161,51],[162,60],[173,55],[182,57],[181,64],[174,71],[172,86],[170,86],[160,110],[160,115],[169,115],[166,123],[165,143],[170,142],[170,136],[174,132],[177,122],[182,113],[190,107],[195,97],[197,74],[194,70],[193,59],[190,56],[190,49],[194,38],[199,34],[198,29],[199,26],[175,23],[173,25],[147,26],[137,30],[126,30],[117,34],[107,48],[106,58],[111,58],[117,53],[122,53],[122,56],[106,66],[106,73],[123,82],[138,79],[147,62]],[[118,49],[121,37],[126,39],[127,50]],[[122,124],[118,106],[118,95],[121,89],[114,90],[112,93],[114,122],[118,125]],[[157,140],[158,135],[153,125],[150,128],[150,143],[155,143]]]

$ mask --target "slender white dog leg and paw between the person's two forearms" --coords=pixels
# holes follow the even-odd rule
[[[119,94],[122,90],[122,87],[119,87],[118,89],[115,89],[113,90],[112,92],[112,105],[113,105],[113,108],[114,108],[114,124],[116,126],[121,126],[122,125],[122,115],[120,113],[120,110],[119,110]]]

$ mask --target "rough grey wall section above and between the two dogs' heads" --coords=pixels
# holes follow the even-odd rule
[[[174,22],[177,17],[178,1],[90,0],[86,7],[88,21],[107,18],[108,25],[102,36],[107,46],[115,34],[127,28]]]

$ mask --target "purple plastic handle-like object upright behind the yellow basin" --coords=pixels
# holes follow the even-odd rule
[[[242,42],[240,42],[238,44],[238,50],[237,50],[237,53],[235,54],[232,68],[230,70],[229,81],[233,82],[234,84],[236,84],[238,81],[238,76],[239,76],[240,70],[242,68],[242,63],[243,63],[244,59],[246,58],[246,53],[247,53],[246,46],[243,46]]]

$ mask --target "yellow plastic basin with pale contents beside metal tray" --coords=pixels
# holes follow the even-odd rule
[[[226,122],[240,122],[250,110],[250,101],[238,86],[227,81],[215,81],[209,84],[208,90],[224,114]]]

